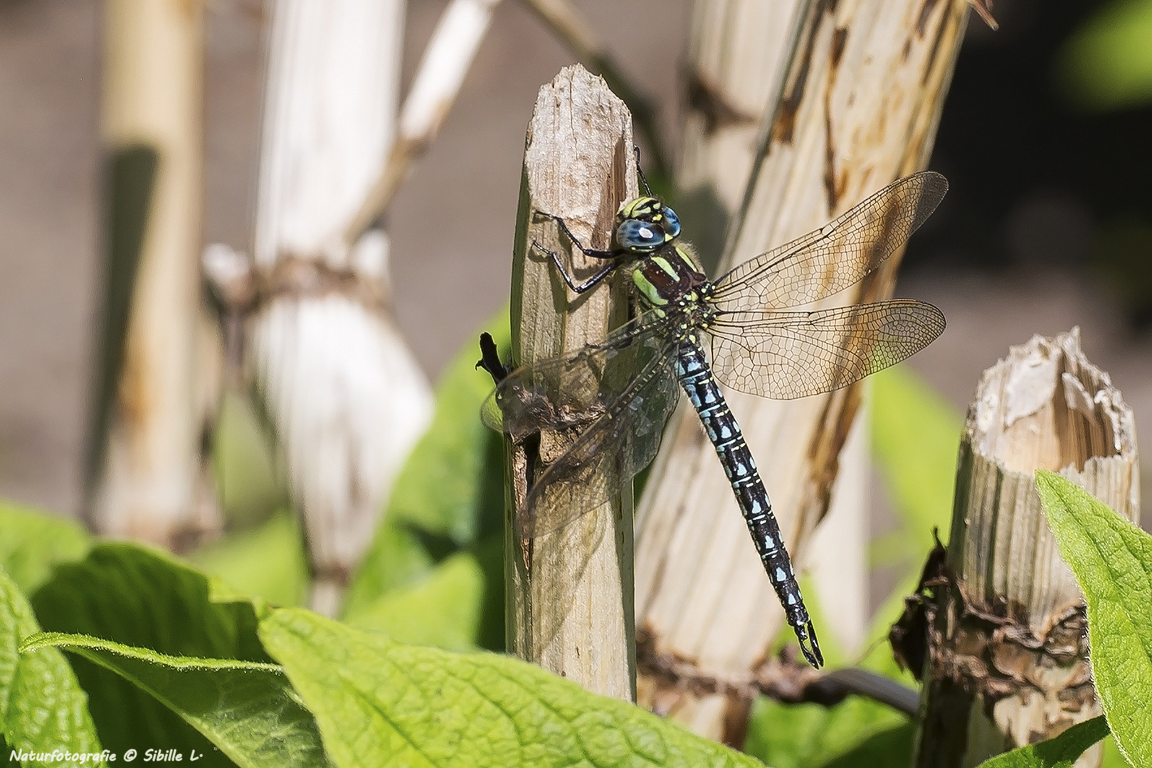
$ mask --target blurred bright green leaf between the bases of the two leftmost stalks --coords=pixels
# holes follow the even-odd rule
[[[298,606],[308,587],[308,563],[296,516],[288,510],[252,531],[233,533],[188,557],[238,594],[276,606]]]

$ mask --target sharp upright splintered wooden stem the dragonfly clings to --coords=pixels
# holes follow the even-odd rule
[[[591,248],[607,248],[619,205],[637,195],[631,117],[599,77],[566,67],[540,89],[528,129],[513,265],[513,355],[517,365],[598,342],[627,317],[624,294],[606,281],[576,296],[552,260],[532,243],[571,253],[577,276],[599,266],[583,257],[539,213],[563,218]],[[632,699],[634,619],[631,489],[616,502],[531,540],[515,532],[523,512],[530,462],[563,450],[540,435],[538,456],[525,444],[510,450],[511,507],[506,526],[508,647],[522,659],[584,687]]]

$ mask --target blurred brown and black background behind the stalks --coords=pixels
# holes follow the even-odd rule
[[[408,5],[406,90],[446,5]],[[659,98],[674,146],[690,3],[576,5]],[[911,366],[962,411],[1009,344],[1079,326],[1152,434],[1152,2],[993,13],[999,31],[971,15],[931,162],[950,192],[897,288],[948,319]],[[251,250],[267,23],[258,0],[206,3],[204,242],[238,251]],[[82,504],[101,297],[100,35],[94,0],[0,0],[0,497],[65,515]],[[395,314],[432,381],[507,301],[524,129],[539,86],[573,61],[523,5],[501,3],[388,212]]]

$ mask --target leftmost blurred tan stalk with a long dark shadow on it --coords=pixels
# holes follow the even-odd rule
[[[203,195],[200,5],[105,3],[106,288],[86,516],[99,532],[183,548],[200,504]]]

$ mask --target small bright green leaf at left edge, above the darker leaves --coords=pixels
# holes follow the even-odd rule
[[[0,568],[24,594],[44,584],[56,563],[79,560],[91,546],[73,520],[0,501]]]

